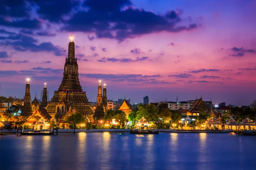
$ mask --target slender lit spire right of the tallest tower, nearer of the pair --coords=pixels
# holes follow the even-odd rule
[[[101,86],[101,80],[99,80],[97,104],[96,104],[96,109],[95,109],[93,118],[95,120],[100,120],[100,119],[103,119],[104,116],[105,116],[105,112],[102,105],[102,86]]]

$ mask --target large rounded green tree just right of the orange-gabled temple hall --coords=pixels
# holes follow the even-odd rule
[[[139,104],[136,119],[139,120],[144,117],[147,121],[157,121],[158,110],[154,105]]]

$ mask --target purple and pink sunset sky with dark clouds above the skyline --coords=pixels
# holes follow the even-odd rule
[[[0,95],[31,98],[63,77],[74,36],[89,101],[256,100],[256,0],[3,0]]]

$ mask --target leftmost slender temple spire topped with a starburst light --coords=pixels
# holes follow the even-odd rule
[[[27,78],[26,81],[27,81],[26,93],[24,97],[24,105],[20,113],[21,116],[30,116],[33,114],[32,107],[31,107],[31,96],[30,96],[30,85],[29,85],[30,78]]]

